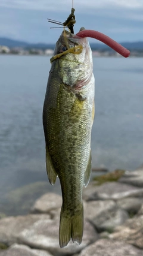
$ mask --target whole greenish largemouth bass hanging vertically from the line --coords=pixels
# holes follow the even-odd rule
[[[59,243],[63,248],[70,239],[82,242],[82,190],[91,176],[94,75],[88,39],[63,31],[51,62],[43,129],[48,179],[54,185],[58,176],[61,184]]]

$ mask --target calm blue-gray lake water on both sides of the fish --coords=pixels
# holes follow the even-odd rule
[[[58,189],[45,170],[49,69],[46,56],[0,56],[0,202],[28,183],[44,180],[49,191]],[[143,162],[143,59],[94,58],[94,75],[92,166],[133,170]]]

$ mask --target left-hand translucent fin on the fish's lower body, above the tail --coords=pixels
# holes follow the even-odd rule
[[[49,155],[48,147],[46,146],[46,171],[48,174],[48,179],[51,185],[55,184],[55,180],[57,178],[57,173],[54,169],[54,166],[51,161],[51,156]]]

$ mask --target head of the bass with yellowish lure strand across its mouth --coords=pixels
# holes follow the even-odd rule
[[[64,30],[55,45],[51,61],[57,62],[54,65],[64,85],[79,90],[91,79],[93,64],[88,38],[80,38]]]

